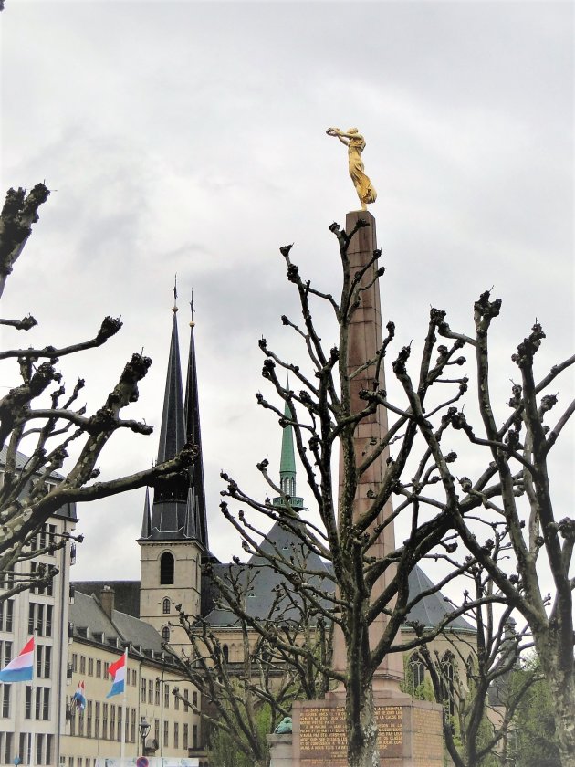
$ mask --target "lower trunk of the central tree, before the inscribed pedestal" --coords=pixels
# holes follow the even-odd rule
[[[348,767],[380,767],[371,681],[361,685],[357,699],[350,694],[346,696],[346,723]]]

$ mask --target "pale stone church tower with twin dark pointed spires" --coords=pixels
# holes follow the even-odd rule
[[[174,290],[175,295],[175,290]],[[152,505],[146,490],[140,559],[140,617],[172,646],[187,645],[178,625],[176,604],[188,615],[199,615],[202,561],[209,556],[205,513],[204,468],[195,365],[195,344],[190,322],[190,351],[183,397],[178,341],[177,307],[173,307],[172,340],[163,399],[158,463],[173,458],[183,445],[200,447],[193,467],[182,477],[162,483],[153,491]],[[172,624],[172,625],[170,625]]]

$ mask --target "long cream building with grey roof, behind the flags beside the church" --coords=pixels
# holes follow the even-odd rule
[[[198,749],[200,722],[193,707],[198,692],[183,678],[162,636],[144,621],[114,606],[114,590],[74,594],[70,605],[73,638],[68,646],[67,727],[61,737],[60,767],[94,767],[97,759],[119,758],[122,730],[127,759],[186,758]],[[108,669],[128,647],[124,696],[108,698]],[[82,686],[85,707],[74,694]],[[141,740],[140,724],[150,730]]]

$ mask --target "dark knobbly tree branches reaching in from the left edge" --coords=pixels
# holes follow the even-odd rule
[[[44,184],[37,184],[27,194],[24,189],[11,189],[6,195],[0,213],[0,295],[37,221],[38,208],[46,202],[48,194]],[[22,320],[0,319],[0,325],[16,331],[28,331],[36,324],[31,316]],[[0,576],[7,584],[0,600],[31,586],[43,585],[56,574],[55,569],[40,569],[30,576],[24,567],[20,575],[15,573],[18,562],[54,552],[69,540],[69,536],[52,537],[45,549],[32,551],[37,531],[55,511],[66,504],[153,486],[163,478],[186,471],[193,462],[196,450],[186,446],[179,456],[154,468],[105,482],[92,481],[99,475],[99,456],[115,431],[127,428],[135,434],[152,433],[151,426],[120,417],[127,405],[137,401],[138,384],[152,360],[133,354],[118,384],[93,415],[87,415],[85,408],[78,406],[84,381],[78,378],[67,394],[57,362],[61,357],[101,346],[120,328],[120,320],[107,317],[88,341],[42,349],[0,350],[0,361],[14,363],[9,373],[6,370],[6,378],[20,379],[19,384],[0,398],[0,455],[4,475],[0,487]],[[81,446],[79,456],[71,468],[60,474],[71,445]]]

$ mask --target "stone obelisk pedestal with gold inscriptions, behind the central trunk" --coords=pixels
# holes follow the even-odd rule
[[[442,709],[408,695],[374,693],[380,767],[443,767]],[[292,709],[292,767],[347,767],[345,699],[298,700]]]

